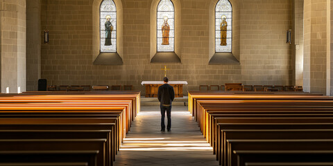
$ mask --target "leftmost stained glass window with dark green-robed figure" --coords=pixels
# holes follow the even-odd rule
[[[114,1],[104,0],[99,8],[101,53],[117,52],[117,9]]]

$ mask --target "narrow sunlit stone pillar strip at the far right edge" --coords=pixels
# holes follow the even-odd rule
[[[333,1],[327,0],[327,95],[333,95]]]

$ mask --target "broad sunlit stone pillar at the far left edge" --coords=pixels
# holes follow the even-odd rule
[[[1,93],[26,91],[26,0],[1,1]]]

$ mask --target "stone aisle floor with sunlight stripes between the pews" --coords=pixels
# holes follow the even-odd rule
[[[114,165],[218,165],[187,107],[173,106],[171,119],[172,131],[161,132],[160,108],[142,107]]]

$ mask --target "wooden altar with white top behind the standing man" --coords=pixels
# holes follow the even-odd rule
[[[164,84],[162,81],[143,81],[142,85],[146,86],[146,98],[157,98],[158,86]],[[169,85],[173,86],[175,98],[182,98],[182,85],[187,84],[186,81],[169,81]]]

